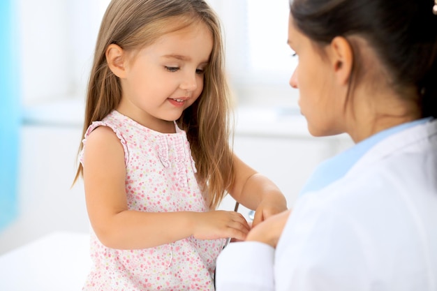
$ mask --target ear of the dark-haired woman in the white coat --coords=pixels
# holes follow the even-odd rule
[[[330,45],[331,64],[339,84],[348,84],[353,67],[353,49],[346,38],[336,36]]]

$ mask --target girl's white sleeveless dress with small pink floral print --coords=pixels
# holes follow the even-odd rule
[[[184,130],[175,124],[176,133],[158,133],[114,110],[89,126],[84,147],[98,126],[112,128],[124,147],[128,209],[209,211]],[[214,290],[224,241],[187,237],[154,248],[118,250],[103,246],[91,230],[94,265],[83,290]]]

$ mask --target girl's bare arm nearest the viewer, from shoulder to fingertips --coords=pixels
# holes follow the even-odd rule
[[[110,248],[135,249],[198,239],[244,239],[249,225],[233,211],[149,213],[128,210],[124,149],[112,129],[99,126],[84,147],[84,188],[91,226]]]

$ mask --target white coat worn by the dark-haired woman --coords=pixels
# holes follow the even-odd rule
[[[303,195],[279,244],[230,244],[218,291],[436,291],[437,121],[387,137]]]

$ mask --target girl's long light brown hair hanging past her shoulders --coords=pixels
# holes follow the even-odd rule
[[[234,182],[230,137],[230,94],[225,77],[223,41],[218,17],[203,0],[112,0],[98,33],[94,64],[87,89],[83,134],[93,121],[114,110],[121,100],[121,84],[108,67],[107,47],[115,43],[126,51],[151,45],[165,33],[195,22],[207,25],[214,45],[205,70],[200,97],[177,120],[191,145],[198,182],[209,207],[215,209]],[[175,25],[177,24],[177,25]],[[80,144],[79,151],[82,151]],[[77,167],[75,181],[82,176]]]

